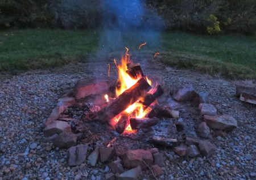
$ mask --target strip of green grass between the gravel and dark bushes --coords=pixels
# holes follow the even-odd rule
[[[106,38],[101,38],[105,35]],[[86,62],[91,55],[129,47],[172,67],[190,68],[233,79],[256,79],[256,37],[118,31],[25,29],[0,32],[0,71],[30,70]],[[148,53],[150,52],[150,53]],[[118,52],[119,53],[119,52]],[[150,54],[150,55],[149,55]],[[148,56],[149,55],[149,56]],[[102,56],[100,56],[102,57]],[[152,58],[153,59],[153,58]]]

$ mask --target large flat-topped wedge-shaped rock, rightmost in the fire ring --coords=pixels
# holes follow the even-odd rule
[[[216,128],[217,130],[232,131],[237,127],[237,121],[232,115],[204,115],[204,121],[210,128]]]

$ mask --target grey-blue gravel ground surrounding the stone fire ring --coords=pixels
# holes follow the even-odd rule
[[[207,91],[217,114],[230,114],[238,127],[225,138],[209,141],[216,153],[209,158],[182,158],[166,149],[164,174],[157,179],[255,179],[256,105],[234,97],[234,83],[158,63],[141,62],[145,74],[162,74],[172,88],[192,83]],[[68,150],[44,140],[42,122],[55,108],[57,98],[72,89],[77,80],[107,76],[108,63],[69,65],[54,70],[29,71],[0,80],[0,180],[2,179],[105,179],[106,164],[91,168],[88,162],[68,166]],[[110,75],[117,78],[115,66]],[[139,179],[150,179],[144,170]]]

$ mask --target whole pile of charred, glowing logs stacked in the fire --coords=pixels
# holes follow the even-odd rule
[[[170,112],[167,109],[160,108],[156,101],[156,98],[163,94],[161,85],[152,88],[145,79],[139,63],[128,63],[127,69],[127,74],[133,79],[139,79],[138,82],[101,109],[96,115],[97,119],[100,119],[102,123],[110,123],[114,117],[121,115],[121,118],[115,124],[115,130],[122,134],[129,124],[133,130],[138,130],[139,128],[156,125],[162,117],[171,118]],[[143,104],[144,118],[131,118],[133,113],[125,112],[130,105],[137,101]]]

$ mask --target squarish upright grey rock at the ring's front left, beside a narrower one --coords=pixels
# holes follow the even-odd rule
[[[68,151],[68,165],[69,166],[76,166],[82,164],[86,158],[86,153],[88,149],[88,144],[79,144],[75,147],[69,148]]]

